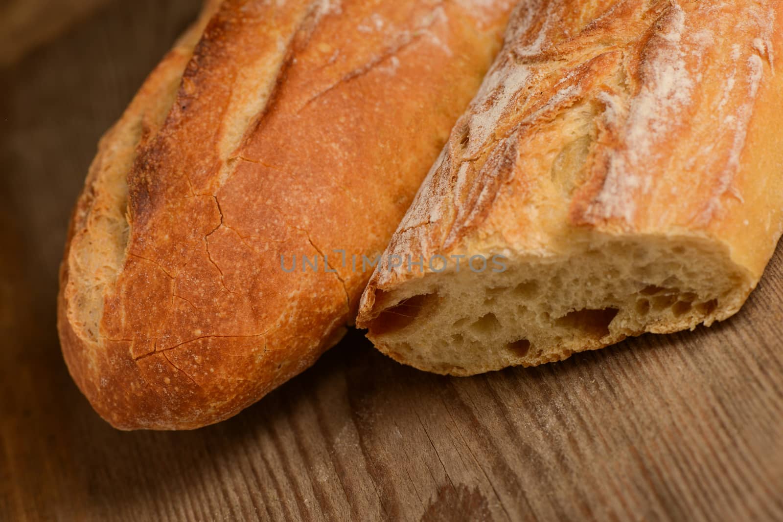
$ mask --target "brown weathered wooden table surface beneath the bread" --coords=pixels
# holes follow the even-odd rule
[[[355,332],[225,423],[100,420],[60,356],[63,235],[196,3],[115,2],[0,71],[0,520],[783,520],[783,248],[711,329],[471,378]]]

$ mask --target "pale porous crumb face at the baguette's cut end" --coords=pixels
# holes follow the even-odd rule
[[[472,375],[709,326],[752,290],[752,277],[714,243],[596,235],[558,255],[508,256],[503,272],[452,266],[376,290],[359,325],[399,362]]]

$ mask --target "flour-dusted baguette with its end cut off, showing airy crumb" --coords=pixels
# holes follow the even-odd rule
[[[402,363],[469,375],[736,313],[783,228],[781,17],[521,2],[357,324]]]

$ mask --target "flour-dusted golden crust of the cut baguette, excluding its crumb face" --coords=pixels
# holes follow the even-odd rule
[[[773,0],[523,2],[384,257],[692,238],[742,274],[741,297],[705,320],[736,312],[783,230],[783,138],[770,126],[783,109],[781,16]],[[373,274],[357,324],[381,350],[373,319],[423,276],[435,277]]]

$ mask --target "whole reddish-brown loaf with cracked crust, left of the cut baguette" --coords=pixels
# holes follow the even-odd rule
[[[209,5],[100,142],[74,211],[60,338],[98,413],[215,423],[334,345],[371,274],[343,256],[388,244],[511,7]]]

